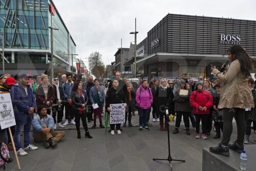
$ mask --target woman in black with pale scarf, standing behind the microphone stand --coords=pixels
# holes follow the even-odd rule
[[[163,117],[166,114],[166,109],[168,109],[169,100],[173,101],[174,99],[174,93],[170,89],[170,87],[167,84],[167,81],[165,78],[160,79],[159,81],[159,87],[157,87],[156,90],[156,106],[157,106],[157,112],[160,118],[160,131],[167,131],[168,129],[168,117],[164,119],[164,128],[163,128]]]

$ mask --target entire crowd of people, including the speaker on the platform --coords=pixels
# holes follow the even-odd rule
[[[253,79],[249,78],[248,71],[251,70],[245,68],[246,62],[241,56],[247,56],[250,60],[242,47],[231,47],[228,50],[231,63],[225,68],[224,73],[212,68],[212,73],[217,77],[215,80],[208,80],[203,76],[199,76],[197,81],[188,80],[187,74],[184,73],[180,80],[163,77],[159,80],[152,78],[149,83],[143,79],[139,84],[134,84],[129,79],[122,79],[120,72],[116,71],[114,80],[106,83],[105,87],[100,85],[99,79],[93,79],[92,76],[83,82],[80,79],[72,80],[71,74],[62,75],[61,80],[54,77],[51,83],[48,75],[41,74],[36,80],[32,80],[30,86],[31,78],[27,74],[19,75],[19,80],[2,74],[0,93],[10,93],[13,103],[16,126],[11,127],[11,130],[17,154],[24,156],[28,154],[25,151],[38,148],[30,142],[31,127],[33,127],[34,140],[44,142],[45,148],[54,148],[57,145],[65,136],[65,132],[56,129],[68,124],[76,125],[77,138],[80,139],[80,120],[85,131],[84,136],[92,138],[87,121],[94,122],[92,126],[94,129],[97,127],[98,117],[99,127],[104,128],[101,116],[103,108],[106,114],[109,114],[110,104],[118,103],[124,103],[125,106],[123,127],[126,127],[127,120],[128,126],[133,126],[132,115],[138,111],[140,131],[150,131],[148,122],[151,113],[152,121],[159,122],[160,131],[167,131],[169,121],[169,117],[166,117],[167,112],[168,115],[176,116],[173,134],[180,132],[183,117],[185,134],[190,135],[190,130],[193,130],[196,139],[207,139],[212,130],[216,131],[214,138],[217,139],[221,137],[221,131],[223,132],[222,142],[217,147],[210,147],[211,152],[226,156],[229,155],[228,148],[240,152],[243,143],[249,143],[252,122],[256,130],[255,84]],[[248,62],[247,65],[251,63]],[[95,105],[98,108],[93,108]],[[64,111],[66,121],[61,124]],[[228,145],[233,117],[238,125],[238,139],[234,144]],[[115,127],[117,134],[120,135],[122,131],[120,123],[110,124],[109,132],[115,135]],[[22,131],[24,131],[24,148],[20,143]],[[0,129],[0,134],[1,141],[11,148],[7,130]],[[256,143],[256,140],[251,142]]]

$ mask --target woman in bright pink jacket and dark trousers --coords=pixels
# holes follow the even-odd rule
[[[147,113],[151,109],[151,105],[153,103],[153,95],[151,89],[148,88],[147,81],[144,79],[141,82],[141,86],[137,89],[136,92],[136,103],[138,106],[138,112],[140,115],[140,131],[143,129],[146,131],[150,131],[148,129],[146,121],[147,121]]]

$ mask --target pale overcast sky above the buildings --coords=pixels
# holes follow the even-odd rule
[[[165,15],[186,14],[256,20],[255,0],[53,0],[76,43],[76,53],[86,61],[90,53],[102,54],[105,65],[115,61],[117,48],[137,44]],[[88,66],[88,63],[86,63]]]

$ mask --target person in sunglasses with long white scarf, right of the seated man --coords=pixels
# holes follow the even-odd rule
[[[61,103],[62,100],[65,100],[65,95],[63,93],[63,89],[61,86],[59,86],[59,79],[57,77],[54,77],[52,79],[52,84],[54,87],[54,95],[55,95],[55,100],[53,101],[53,109],[52,109],[52,117],[54,120],[54,130],[56,130],[56,127],[65,127],[64,125],[62,125],[60,122],[62,121],[62,111],[61,111]],[[57,124],[56,124],[56,115],[58,112],[58,116],[57,116]]]

